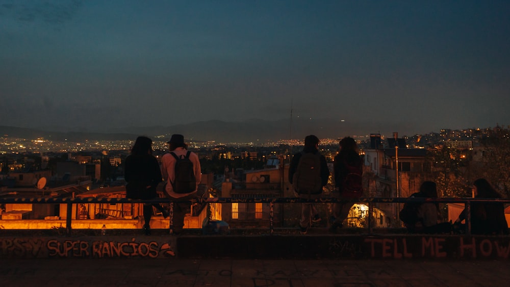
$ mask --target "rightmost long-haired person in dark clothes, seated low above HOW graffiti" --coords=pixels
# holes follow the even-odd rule
[[[501,195],[484,178],[478,178],[473,182],[473,194],[474,198],[501,198]],[[503,203],[472,202],[470,215],[472,234],[508,234]],[[464,224],[461,222],[466,218],[467,209],[464,208],[455,220],[454,226],[464,230]]]

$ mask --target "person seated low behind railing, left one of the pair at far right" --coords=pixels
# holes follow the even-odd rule
[[[437,186],[433,181],[424,181],[420,191],[410,198],[437,198]],[[449,233],[451,223],[438,223],[439,204],[435,202],[407,202],[399,213],[400,220],[412,233]]]

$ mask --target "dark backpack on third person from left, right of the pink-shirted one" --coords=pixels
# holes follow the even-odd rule
[[[322,193],[319,153],[301,152],[296,172],[292,176],[292,185],[298,194]]]

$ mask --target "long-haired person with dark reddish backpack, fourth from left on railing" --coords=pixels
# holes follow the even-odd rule
[[[333,196],[337,199],[360,198],[363,195],[362,172],[363,163],[358,153],[358,145],[351,137],[340,141],[340,151],[333,162],[335,173],[335,191]],[[343,221],[349,215],[353,202],[333,203],[333,218],[330,231],[336,232],[343,226]]]

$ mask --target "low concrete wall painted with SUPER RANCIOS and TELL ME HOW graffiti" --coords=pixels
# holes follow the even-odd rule
[[[0,237],[0,258],[501,259],[510,237],[462,236],[21,236]]]

